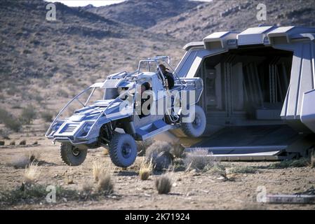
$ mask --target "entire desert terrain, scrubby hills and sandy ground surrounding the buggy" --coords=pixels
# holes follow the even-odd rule
[[[15,169],[11,164],[29,152],[40,154],[35,185],[62,186],[76,195],[86,183],[95,186],[93,162],[113,168],[102,148],[89,151],[83,165],[67,167],[60,159],[59,144],[44,137],[51,118],[65,102],[110,73],[133,71],[139,59],[170,55],[176,66],[184,54],[181,47],[188,41],[199,41],[213,31],[241,31],[260,25],[262,22],[255,20],[257,2],[186,1],[178,10],[173,0],[145,0],[132,1],[132,11],[128,1],[99,10],[56,3],[58,19],[48,22],[46,2],[1,1],[0,142],[4,141],[4,146],[0,144],[0,196],[24,188],[25,168]],[[268,14],[265,24],[315,25],[313,1],[264,3]],[[145,22],[132,17],[140,6],[147,14]],[[163,8],[161,15],[156,14],[159,8]],[[19,145],[23,139],[26,145]],[[10,145],[13,141],[15,145]],[[279,162],[222,162],[226,176],[210,170],[175,169],[168,172],[173,181],[170,193],[159,195],[155,181],[161,174],[140,180],[143,159],[138,157],[126,170],[114,169],[111,195],[57,195],[52,204],[42,195],[37,200],[16,197],[12,203],[1,197],[0,209],[315,209],[315,204],[256,202],[258,186],[272,194],[314,188],[315,169],[307,165],[280,168]]]

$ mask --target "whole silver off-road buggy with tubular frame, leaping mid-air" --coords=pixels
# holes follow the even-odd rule
[[[173,71],[171,89],[160,64]],[[203,134],[206,116],[196,105],[202,91],[203,80],[180,78],[170,57],[141,60],[133,73],[114,73],[76,95],[58,113],[46,137],[61,142],[61,158],[67,165],[81,165],[89,148],[104,146],[114,165],[128,167],[138,153],[135,141],[178,128],[189,137]],[[74,104],[80,108],[74,110]]]

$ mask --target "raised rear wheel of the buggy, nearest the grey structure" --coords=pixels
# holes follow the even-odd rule
[[[180,122],[182,132],[187,137],[200,137],[206,130],[206,115],[200,106],[195,105],[195,116],[191,123]]]

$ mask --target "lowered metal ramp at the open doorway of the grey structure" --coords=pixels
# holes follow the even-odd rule
[[[288,125],[224,127],[185,151],[206,149],[217,160],[283,160],[288,146],[298,139],[298,132]]]

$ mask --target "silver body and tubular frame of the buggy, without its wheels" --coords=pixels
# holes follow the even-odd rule
[[[51,126],[46,132],[46,137],[53,142],[67,142],[77,148],[94,148],[102,146],[110,141],[102,137],[105,141],[100,141],[100,130],[105,125],[112,125],[112,122],[118,122],[121,132],[131,134],[136,140],[145,140],[154,137],[156,134],[170,129],[178,128],[178,125],[168,125],[163,121],[164,113],[145,116],[140,118],[135,113],[135,95],[142,83],[149,82],[154,93],[154,102],[166,100],[174,90],[196,91],[194,101],[190,104],[196,104],[199,101],[203,91],[203,81],[201,78],[180,78],[174,71],[175,86],[168,90],[163,83],[165,79],[160,76],[161,70],[156,71],[159,63],[166,63],[170,68],[170,58],[166,56],[152,57],[139,62],[138,70],[133,73],[126,71],[114,73],[107,76],[102,83],[95,83],[83,92],[79,93],[69,101],[58,113]],[[142,71],[142,66],[146,66],[147,71]],[[152,70],[152,66],[155,71]],[[126,100],[121,99],[119,90],[128,89],[131,101],[127,104]],[[101,89],[104,94],[102,99],[91,102],[95,90]],[[158,94],[161,91],[163,94]],[[80,101],[80,96],[91,92],[86,102]],[[79,102],[81,109],[74,111],[74,114],[68,118],[60,118],[62,113],[74,103]],[[158,104],[156,104],[157,106]],[[166,110],[170,110],[169,108]],[[166,112],[166,111],[164,111]],[[179,116],[177,114],[177,116]],[[112,129],[112,127],[110,127]]]

